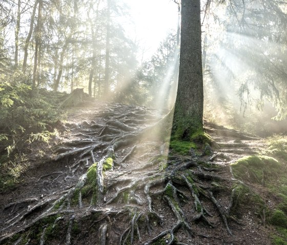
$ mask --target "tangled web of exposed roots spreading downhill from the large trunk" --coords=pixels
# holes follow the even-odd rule
[[[29,237],[33,225],[53,215],[49,226],[39,223],[37,244],[49,244],[46,241],[47,227],[54,229],[57,225],[66,227],[65,235],[55,238],[57,242],[53,244],[86,242],[81,240],[86,239],[84,233],[81,236],[73,234],[75,222],[85,227],[82,229],[80,226],[79,229],[88,231],[93,242],[99,245],[190,244],[187,236],[184,236],[186,240],[179,242],[177,238],[180,238],[181,231],[193,239],[211,238],[202,234],[204,231],[198,232],[198,227],[194,229],[199,222],[202,227],[226,229],[232,235],[228,221],[235,222],[235,226],[240,224],[230,216],[230,210],[236,205],[236,190],[230,197],[230,186],[227,188],[226,184],[231,182],[221,177],[226,175],[220,175],[223,168],[216,167],[215,162],[217,158],[223,159],[224,154],[171,156],[166,151],[168,143],[155,140],[153,134],[156,130],[166,131],[162,123],[170,120],[170,115],[142,129],[139,125],[147,123],[144,121],[147,115],[141,114],[140,110],[137,114],[119,113],[117,108],[121,105],[101,113],[103,118],[100,122],[85,119],[87,121],[81,124],[71,123],[75,132],[69,135],[74,137],[73,140],[61,141],[55,149],[58,155],[53,158],[62,166],[67,165],[69,170],[63,170],[63,166],[62,171],[42,172],[34,179],[37,180],[34,184],[38,185],[43,178],[54,175],[54,184],[60,186],[61,183],[66,189],[67,181],[70,187],[64,192],[53,190],[40,201],[26,197],[23,201],[6,205],[4,211],[8,221],[5,220],[7,226],[2,231],[10,231],[11,234],[3,236],[0,243],[10,242],[14,235],[20,235],[19,239],[7,244],[24,244],[23,240],[30,242],[30,238],[34,244],[35,238]],[[82,116],[88,118],[86,114]],[[116,167],[105,172],[109,158],[113,159]],[[87,173],[93,174],[93,180]],[[220,199],[217,201],[215,198],[218,193],[224,193],[223,203],[230,198],[227,210],[219,203]],[[28,210],[21,210],[20,206],[28,206]],[[175,219],[166,220],[166,215]],[[215,226],[218,222],[225,228]],[[12,227],[16,225],[22,228],[15,231]]]

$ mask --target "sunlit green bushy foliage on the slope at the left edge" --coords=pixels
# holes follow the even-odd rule
[[[27,146],[48,143],[56,135],[55,125],[63,118],[57,108],[61,97],[47,90],[32,91],[24,83],[0,84],[0,191],[12,187],[25,171]]]

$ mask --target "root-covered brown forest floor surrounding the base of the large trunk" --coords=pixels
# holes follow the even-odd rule
[[[205,123],[217,147],[180,155],[155,137],[161,118],[100,101],[69,109],[20,184],[1,193],[0,244],[272,244],[259,209],[279,200],[230,168],[267,149],[264,140]]]

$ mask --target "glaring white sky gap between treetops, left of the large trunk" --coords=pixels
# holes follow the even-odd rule
[[[169,31],[177,29],[177,5],[171,0],[126,0],[125,2],[131,8],[135,25],[129,34],[144,48],[144,59],[148,59]]]

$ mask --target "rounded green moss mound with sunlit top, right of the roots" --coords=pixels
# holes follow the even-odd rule
[[[281,172],[282,164],[267,156],[252,155],[231,164],[234,176],[252,183],[262,183]]]

